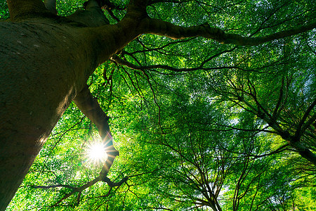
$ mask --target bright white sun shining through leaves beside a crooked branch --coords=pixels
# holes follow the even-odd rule
[[[107,153],[103,143],[93,143],[87,148],[88,160],[93,163],[105,162],[107,160]]]

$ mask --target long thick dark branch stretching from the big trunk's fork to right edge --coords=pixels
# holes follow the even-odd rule
[[[243,37],[239,34],[226,34],[218,27],[210,27],[209,24],[197,25],[192,27],[180,27],[163,20],[145,18],[142,22],[144,34],[157,34],[171,39],[185,39],[187,37],[205,37],[214,39],[222,44],[235,44],[239,46],[256,46],[267,41],[289,37],[294,34],[300,34],[312,30],[316,23],[310,23],[291,30],[284,30],[269,34],[263,37]]]

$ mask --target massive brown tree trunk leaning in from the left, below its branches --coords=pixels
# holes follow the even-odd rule
[[[89,34],[51,23],[1,23],[0,210],[95,70]]]

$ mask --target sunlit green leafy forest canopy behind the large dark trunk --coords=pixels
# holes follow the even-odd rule
[[[103,3],[111,25],[129,5]],[[56,1],[60,16],[83,6]],[[146,11],[247,40],[131,41],[87,82],[119,151],[106,177],[96,181],[98,128],[72,102],[7,210],[316,210],[315,2],[151,0]]]

